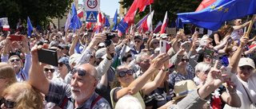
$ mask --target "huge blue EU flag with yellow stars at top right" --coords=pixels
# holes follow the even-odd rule
[[[198,12],[177,14],[182,23],[218,30],[224,21],[256,14],[256,0],[218,0]]]

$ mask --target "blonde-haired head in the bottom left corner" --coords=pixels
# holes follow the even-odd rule
[[[42,95],[28,82],[11,84],[2,92],[1,108],[42,109]]]

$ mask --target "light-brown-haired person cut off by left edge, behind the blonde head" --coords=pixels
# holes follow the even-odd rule
[[[2,91],[10,84],[15,83],[14,67],[5,62],[0,63],[0,103],[2,103]]]

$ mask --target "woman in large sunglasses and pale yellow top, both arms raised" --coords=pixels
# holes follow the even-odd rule
[[[153,57],[151,56],[151,58]],[[111,86],[112,90],[110,91],[112,107],[115,107],[118,99],[122,98],[122,96],[130,94],[137,98],[143,104],[143,108],[145,108],[142,96],[154,91],[155,88],[158,88],[166,75],[169,59],[170,57],[166,53],[158,55],[151,61],[150,68],[148,68],[146,72],[136,80],[134,80],[133,72],[129,67],[124,65],[118,66]],[[164,64],[164,67],[162,67],[162,64]],[[155,80],[153,82],[146,83],[154,72],[161,67],[162,70],[158,73]]]

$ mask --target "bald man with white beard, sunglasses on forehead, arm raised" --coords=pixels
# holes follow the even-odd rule
[[[38,62],[37,49],[42,46],[35,45],[31,50],[30,84],[46,95],[47,102],[56,103],[61,108],[110,108],[106,99],[94,92],[98,84],[94,66],[81,64],[74,68],[70,85],[50,82],[42,72],[45,64]]]

